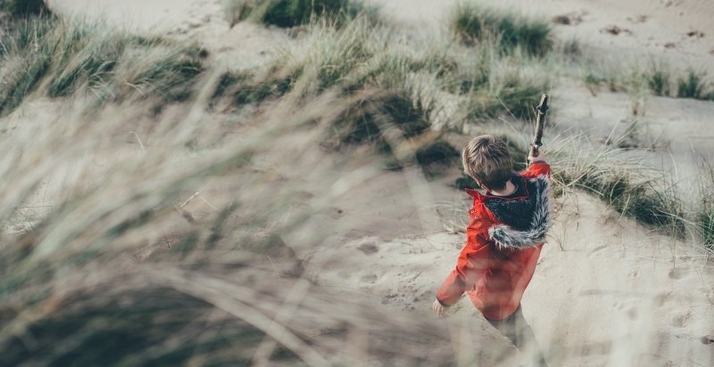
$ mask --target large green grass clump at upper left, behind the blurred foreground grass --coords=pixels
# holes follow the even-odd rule
[[[17,108],[29,94],[79,93],[100,103],[152,95],[163,102],[183,101],[203,69],[197,47],[78,20],[22,21],[3,43],[0,114]]]

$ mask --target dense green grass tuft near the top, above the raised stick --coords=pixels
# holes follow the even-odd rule
[[[460,3],[449,22],[452,32],[466,45],[495,41],[503,53],[520,49],[532,55],[552,50],[552,27],[513,12],[497,11],[481,4]]]

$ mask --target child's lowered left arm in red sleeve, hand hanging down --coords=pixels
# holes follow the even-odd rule
[[[436,302],[440,306],[448,307],[456,303],[461,294],[472,289],[486,271],[490,257],[487,235],[490,224],[486,218],[475,218],[469,224],[466,229],[466,246],[461,250],[459,262],[436,292]],[[432,308],[439,315],[436,302]]]

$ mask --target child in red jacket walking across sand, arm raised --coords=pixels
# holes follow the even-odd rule
[[[535,351],[545,365],[535,337],[523,314],[520,299],[535,271],[535,264],[550,224],[550,166],[544,155],[528,157],[530,167],[512,171],[506,144],[491,135],[473,138],[461,153],[464,170],[486,194],[467,193],[469,209],[466,246],[456,269],[436,293],[432,309],[437,316],[466,292],[478,311],[521,351]]]

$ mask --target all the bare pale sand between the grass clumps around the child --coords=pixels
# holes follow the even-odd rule
[[[440,21],[455,2],[375,3],[382,4],[407,31],[438,32]],[[53,0],[51,5],[59,12],[104,17],[139,32],[198,42],[226,67],[258,65],[290,42],[277,29],[252,24],[229,29],[219,1]],[[707,0],[508,1],[499,5],[548,18],[566,16],[570,24],[557,26],[559,36],[577,37],[590,52],[626,59],[663,55],[677,64],[714,70],[714,23],[710,21],[714,6]],[[617,35],[615,27],[620,29]],[[688,32],[695,34],[688,36]],[[585,86],[557,86],[553,103],[566,106],[555,110],[558,126],[570,126],[595,138],[631,118],[627,95],[593,95]],[[711,159],[712,144],[701,139],[701,132],[709,131],[714,106],[654,97],[646,103],[646,113],[640,118],[645,136],[666,142],[666,149],[655,151],[652,161],[671,156],[677,167],[685,167],[683,177],[696,175],[696,159]],[[332,159],[321,151],[311,154],[313,165]],[[320,196],[309,176],[301,175],[310,166],[291,170],[279,162],[278,157],[265,157],[266,167],[299,186],[307,203]],[[320,284],[345,290],[351,297],[363,294],[362,302],[394,307],[415,318],[432,318],[428,308],[436,288],[455,265],[463,243],[458,230],[466,219],[468,198],[445,180],[428,182],[411,169],[365,172],[371,177],[367,184],[345,193],[332,203],[333,210],[312,219],[316,228],[351,228],[326,241],[339,247],[340,260],[314,276]],[[303,258],[323,250],[311,248],[299,235],[290,244]],[[554,366],[714,365],[714,344],[709,342],[714,334],[714,264],[708,254],[622,218],[583,193],[568,192],[558,200],[557,223],[523,298],[523,310]],[[435,348],[461,345],[457,353],[482,355],[486,361],[491,358],[489,352],[478,346],[496,343],[509,348],[474,313],[468,300],[453,306],[449,314],[444,327],[448,325],[453,338],[436,343]],[[469,324],[466,334],[458,329],[464,323]]]

